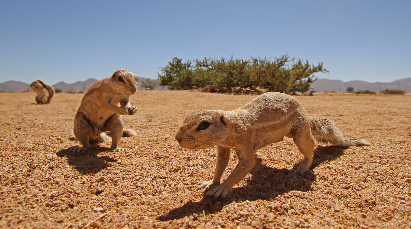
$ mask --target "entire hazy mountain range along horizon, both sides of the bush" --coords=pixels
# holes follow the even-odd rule
[[[141,87],[141,82],[147,80],[147,78],[139,77],[139,87]],[[159,80],[153,80],[158,82]],[[55,89],[61,89],[63,92],[67,90],[73,90],[73,92],[86,92],[87,89],[93,84],[97,82],[96,79],[89,78],[85,81],[77,81],[72,84],[68,84],[65,82],[58,82],[55,85],[52,85]],[[47,82],[46,82],[47,83]],[[30,89],[30,84],[20,81],[6,81],[0,83],[0,91],[5,92],[23,92],[32,91]],[[401,80],[394,80],[393,82],[366,82],[361,80],[352,80],[349,82],[343,82],[341,80],[329,80],[329,79],[319,79],[316,80],[312,85],[311,88],[316,92],[329,92],[334,90],[335,92],[344,92],[346,91],[347,87],[354,87],[355,91],[363,91],[363,90],[370,90],[374,92],[380,92],[381,90],[385,89],[400,89],[405,92],[411,92],[411,78],[404,78]],[[164,89],[161,86],[156,86],[155,90],[162,90]]]

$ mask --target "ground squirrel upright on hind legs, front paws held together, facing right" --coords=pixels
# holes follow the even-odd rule
[[[135,136],[136,132],[123,129],[120,115],[134,115],[137,108],[130,105],[130,96],[137,91],[139,77],[132,71],[120,69],[113,76],[95,82],[84,94],[74,118],[74,136],[83,147],[73,147],[70,152],[90,149],[90,142],[107,142],[111,135],[111,149],[118,148],[121,137]],[[119,106],[120,105],[120,106]]]

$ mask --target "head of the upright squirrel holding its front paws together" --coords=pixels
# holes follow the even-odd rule
[[[131,96],[137,91],[139,76],[134,72],[120,69],[113,73],[110,78],[110,87],[114,92]]]

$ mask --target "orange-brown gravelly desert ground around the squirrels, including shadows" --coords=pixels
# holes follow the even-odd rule
[[[175,141],[185,116],[233,110],[257,95],[140,91],[137,132],[110,151],[69,153],[83,94],[0,93],[0,228],[410,228],[411,96],[295,96],[311,116],[327,117],[370,146],[317,145],[312,173],[288,175],[303,158],[284,138],[256,152],[251,173],[230,199],[203,199],[216,149],[189,151]],[[237,163],[231,158],[223,180]]]

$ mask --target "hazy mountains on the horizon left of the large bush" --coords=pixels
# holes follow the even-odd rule
[[[141,87],[141,82],[143,82],[145,80],[147,80],[147,78],[139,77],[138,87]],[[85,81],[77,81],[77,82],[71,83],[71,84],[61,81],[61,82],[58,82],[58,83],[56,83],[52,86],[54,87],[54,89],[60,89],[63,92],[68,91],[68,90],[70,90],[72,92],[86,92],[87,89],[91,85],[93,85],[93,83],[95,83],[97,81],[98,80],[93,79],[93,78],[89,78]],[[153,81],[156,81],[156,80],[153,80]],[[161,90],[162,87],[157,86],[157,87],[155,87],[155,89]],[[4,92],[23,92],[23,91],[27,91],[27,90],[32,92],[32,89],[30,88],[30,84],[25,83],[25,82],[10,80],[10,81],[0,83],[0,91],[4,91]]]

